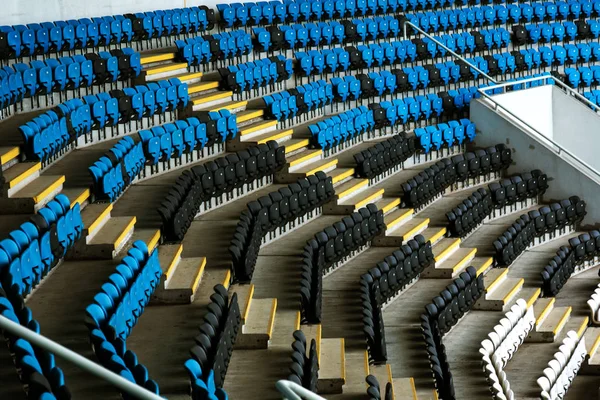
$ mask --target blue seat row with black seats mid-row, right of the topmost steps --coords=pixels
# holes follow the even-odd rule
[[[188,66],[198,66],[229,60],[252,52],[252,38],[244,31],[215,33],[196,36],[186,40],[176,40],[175,59]]]

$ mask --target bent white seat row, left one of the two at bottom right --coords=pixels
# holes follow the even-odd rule
[[[504,367],[534,326],[533,307],[527,307],[525,300],[518,299],[500,323],[488,334],[488,338],[481,342],[479,354],[482,358],[482,368],[495,400],[515,398]]]

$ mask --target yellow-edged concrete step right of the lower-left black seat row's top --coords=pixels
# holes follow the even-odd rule
[[[238,335],[236,347],[240,349],[267,349],[273,334],[277,299],[252,298],[247,305],[246,322]]]

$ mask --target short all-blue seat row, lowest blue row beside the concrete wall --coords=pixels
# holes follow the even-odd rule
[[[414,132],[417,143],[425,153],[429,153],[431,149],[439,150],[442,147],[451,148],[455,144],[463,144],[465,137],[472,142],[476,134],[475,124],[466,118],[416,128]]]

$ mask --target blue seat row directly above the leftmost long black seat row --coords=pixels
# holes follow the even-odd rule
[[[199,111],[195,117],[138,131],[150,165],[180,158],[194,150],[212,147],[237,136],[237,117],[227,109]]]

